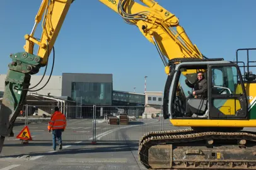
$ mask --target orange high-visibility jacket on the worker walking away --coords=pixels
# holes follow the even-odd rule
[[[50,122],[48,123],[48,130],[55,130],[66,128],[66,116],[61,113],[61,111],[55,111],[52,116],[50,116]]]

